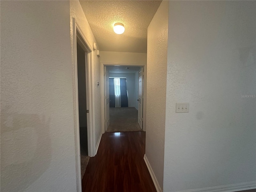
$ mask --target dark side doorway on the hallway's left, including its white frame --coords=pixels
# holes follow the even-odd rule
[[[82,176],[85,170],[82,168],[83,172],[81,172],[81,164],[82,166],[87,164],[86,161],[81,158],[81,154],[82,156],[86,156],[87,154],[89,157],[93,157],[96,154],[94,125],[92,123],[94,122],[92,78],[93,48],[86,39],[86,36],[82,33],[76,19],[73,18],[72,20],[72,45],[74,48],[74,121],[76,124],[74,130],[76,143],[76,184],[78,190],[81,191]],[[81,91],[83,92],[82,95]]]

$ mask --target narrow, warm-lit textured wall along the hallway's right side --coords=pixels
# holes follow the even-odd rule
[[[160,187],[164,172],[164,127],[168,1],[163,1],[148,26],[146,157]]]

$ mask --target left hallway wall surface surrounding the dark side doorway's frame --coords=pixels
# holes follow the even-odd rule
[[[74,57],[74,45],[73,45],[73,23],[72,18],[76,19],[78,26],[82,30],[83,34],[85,35],[86,39],[89,41],[91,47],[93,47],[93,43],[96,42],[92,30],[88,24],[88,21],[84,15],[82,7],[79,1],[70,1],[70,40],[71,40],[71,54],[72,58]],[[101,134],[101,106],[100,106],[100,86],[97,86],[97,82],[100,82],[100,59],[96,55],[96,51],[93,53],[93,64],[92,64],[92,73],[93,73],[93,105],[94,105],[94,117],[95,120],[92,122],[94,124],[94,134],[95,134],[95,146],[99,140]],[[72,60],[72,71],[74,73],[74,60]],[[75,85],[74,85],[74,76],[73,76],[73,100],[74,100],[74,109],[76,109],[75,103]],[[76,110],[74,110],[74,127],[75,127],[75,134],[76,134]],[[76,141],[77,143],[77,141]],[[77,146],[77,144],[76,144]],[[77,151],[77,149],[76,149]],[[77,153],[76,153],[77,154]],[[77,167],[77,170],[79,168]],[[77,178],[79,180],[79,178]]]

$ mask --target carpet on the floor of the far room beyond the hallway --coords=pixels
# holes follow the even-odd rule
[[[134,107],[111,107],[110,125],[106,132],[142,131],[138,124],[138,110]]]

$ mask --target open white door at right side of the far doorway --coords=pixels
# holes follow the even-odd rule
[[[139,72],[139,85],[138,85],[138,124],[142,129],[143,124],[143,67],[140,68]]]

